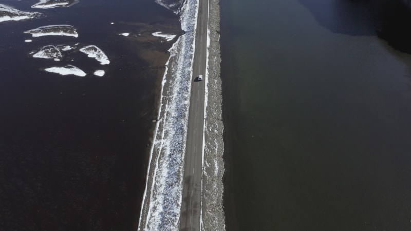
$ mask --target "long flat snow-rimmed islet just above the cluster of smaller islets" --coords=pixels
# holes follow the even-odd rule
[[[47,36],[47,35],[60,35],[60,36],[73,36],[78,37],[76,28],[70,25],[50,25],[44,27],[38,27],[35,29],[24,31],[24,33],[31,34],[33,37]]]

